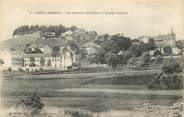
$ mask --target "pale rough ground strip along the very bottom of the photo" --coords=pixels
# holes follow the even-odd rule
[[[184,99],[180,99],[170,106],[152,105],[145,103],[129,110],[109,110],[103,112],[91,112],[74,108],[44,107],[37,117],[183,117]],[[29,111],[23,108],[10,108],[3,110],[6,117],[28,117]]]

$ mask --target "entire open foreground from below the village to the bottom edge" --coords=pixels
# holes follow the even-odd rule
[[[154,113],[168,117],[168,112],[175,113],[172,106],[182,99],[183,90],[147,89],[159,74],[160,70],[123,70],[11,75],[1,79],[2,106],[9,113],[20,99],[37,92],[45,104],[40,117],[152,117]]]

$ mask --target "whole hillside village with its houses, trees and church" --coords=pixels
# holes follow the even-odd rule
[[[158,55],[165,58],[183,55],[182,43],[178,45],[177,42],[180,41],[176,40],[176,35],[172,29],[165,35],[139,36],[137,39],[130,39],[121,34],[97,35],[95,31],[86,31],[75,26],[73,28],[59,35],[51,31],[14,35],[13,39],[8,41],[31,41],[20,46],[18,43],[21,42],[17,41],[12,44],[12,47],[7,46],[5,48],[2,44],[0,51],[1,70],[39,72],[95,67],[107,68],[116,67],[118,64],[125,66],[128,61],[131,63],[131,60],[141,58],[143,53],[147,53],[152,59],[155,59]],[[116,45],[113,38],[115,38],[114,40],[122,38],[124,41],[122,45],[117,45],[120,49],[113,47]],[[121,43],[121,40],[117,43]],[[139,45],[141,44],[147,47],[140,48]],[[117,58],[110,52],[115,52]],[[105,60],[108,54],[112,54],[115,59],[109,55],[111,58]]]

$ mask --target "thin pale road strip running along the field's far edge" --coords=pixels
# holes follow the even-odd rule
[[[40,75],[21,75],[14,76],[12,78],[19,79],[50,79],[50,78],[86,78],[86,77],[96,77],[96,78],[105,78],[111,75],[144,75],[144,74],[153,74],[160,73],[161,70],[130,70],[124,69],[121,71],[113,72],[98,72],[98,73],[57,73],[57,74],[40,74]]]

